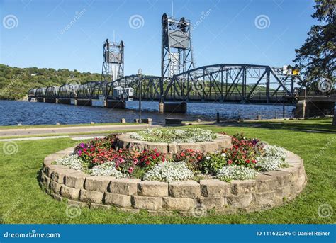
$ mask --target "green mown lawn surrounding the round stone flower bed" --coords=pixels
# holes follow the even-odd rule
[[[315,120],[306,124],[314,127],[324,123]],[[265,123],[266,124],[266,123]],[[305,122],[296,123],[304,127]],[[300,196],[284,206],[257,213],[215,215],[206,217],[154,217],[145,212],[140,214],[121,213],[111,210],[82,209],[79,217],[67,217],[67,204],[47,196],[36,176],[47,154],[70,147],[78,141],[67,138],[16,142],[18,152],[6,155],[0,149],[0,217],[4,223],[335,223],[332,217],[318,216],[318,207],[327,203],[336,210],[336,135],[322,132],[290,130],[291,126],[279,127],[221,127],[198,125],[215,132],[233,135],[244,132],[248,137],[259,137],[272,145],[279,145],[300,155],[304,159],[308,183]],[[318,127],[316,127],[318,128]],[[331,141],[331,142],[330,142]],[[329,142],[329,143],[328,143]],[[326,146],[328,144],[328,146]],[[3,147],[4,142],[0,142]]]

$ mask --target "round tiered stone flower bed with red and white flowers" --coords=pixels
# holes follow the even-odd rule
[[[193,141],[211,142],[224,136],[197,129],[171,130],[169,135],[167,130],[146,130],[130,137],[147,139],[144,135],[152,134],[152,141],[172,142],[172,137],[192,132],[198,134]],[[279,204],[279,198],[296,196],[306,181],[300,157],[291,160],[286,149],[242,134],[233,135],[230,146],[214,152],[184,149],[174,154],[157,148],[120,147],[122,136],[96,138],[77,145],[65,157],[47,159],[43,184],[53,195],[93,205],[187,210],[194,203],[208,203],[207,207],[223,210],[225,203],[254,209]],[[179,142],[186,140],[181,137]]]

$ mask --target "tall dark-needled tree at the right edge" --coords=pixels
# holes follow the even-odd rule
[[[336,6],[335,0],[315,0],[312,15],[320,25],[314,25],[300,49],[296,49],[296,59],[304,76],[303,86],[317,91],[321,82],[327,81],[332,89],[335,84],[336,62]]]

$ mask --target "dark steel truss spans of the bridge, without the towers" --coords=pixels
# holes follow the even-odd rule
[[[150,75],[130,75],[105,83],[89,81],[30,91],[29,98],[113,100],[117,86],[134,89],[134,100],[186,101],[216,103],[293,103],[297,96],[298,76],[284,75],[281,69],[254,64],[215,64],[164,79]],[[141,85],[141,89],[140,89]],[[163,89],[162,89],[163,87]]]

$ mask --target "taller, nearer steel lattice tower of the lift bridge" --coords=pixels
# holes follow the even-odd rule
[[[163,107],[164,82],[175,74],[194,69],[191,47],[191,23],[162,15],[160,110]]]

